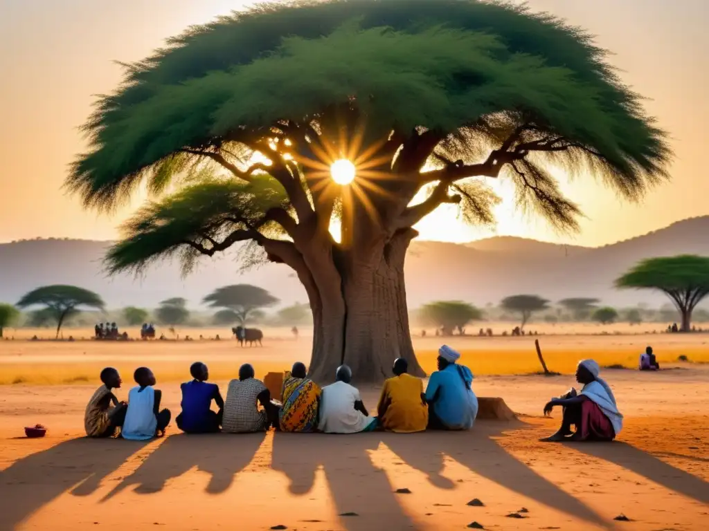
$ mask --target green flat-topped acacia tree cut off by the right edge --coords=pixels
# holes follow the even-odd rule
[[[615,281],[620,288],[658,290],[681,314],[683,332],[691,330],[692,312],[709,295],[709,257],[696,255],[647,258]]]

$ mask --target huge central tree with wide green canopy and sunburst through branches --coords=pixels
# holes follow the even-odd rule
[[[403,265],[423,217],[454,203],[467,222],[492,223],[498,198],[483,179],[504,177],[520,207],[574,229],[579,208],[549,164],[628,200],[666,177],[664,132],[605,57],[584,31],[525,6],[259,4],[126,65],[67,186],[106,210],[144,182],[182,185],[125,224],[109,270],[177,257],[189,271],[250,242],[242,258],[258,249],[306,289],[311,377],[346,362],[377,381],[397,356],[421,375]]]

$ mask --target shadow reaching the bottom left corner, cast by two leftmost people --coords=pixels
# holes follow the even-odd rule
[[[72,486],[75,496],[89,496],[145,444],[72,439],[18,460],[0,472],[1,527],[13,529]]]

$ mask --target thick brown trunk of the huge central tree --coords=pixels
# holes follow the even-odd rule
[[[397,233],[379,246],[350,251],[338,261],[340,285],[324,282],[327,268],[311,269],[318,290],[311,293],[313,356],[310,375],[328,383],[342,363],[354,381],[381,382],[391,376],[395,358],[409,362],[409,372],[423,376],[413,352],[408,324],[403,263],[411,230]],[[320,275],[320,273],[323,275]],[[313,304],[313,299],[320,304]]]

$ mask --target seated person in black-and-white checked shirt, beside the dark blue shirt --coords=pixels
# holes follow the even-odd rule
[[[271,401],[271,392],[256,379],[254,367],[245,363],[239,368],[239,379],[229,382],[224,404],[222,431],[254,433],[266,431],[278,424],[278,406]],[[258,409],[261,404],[263,409]]]

